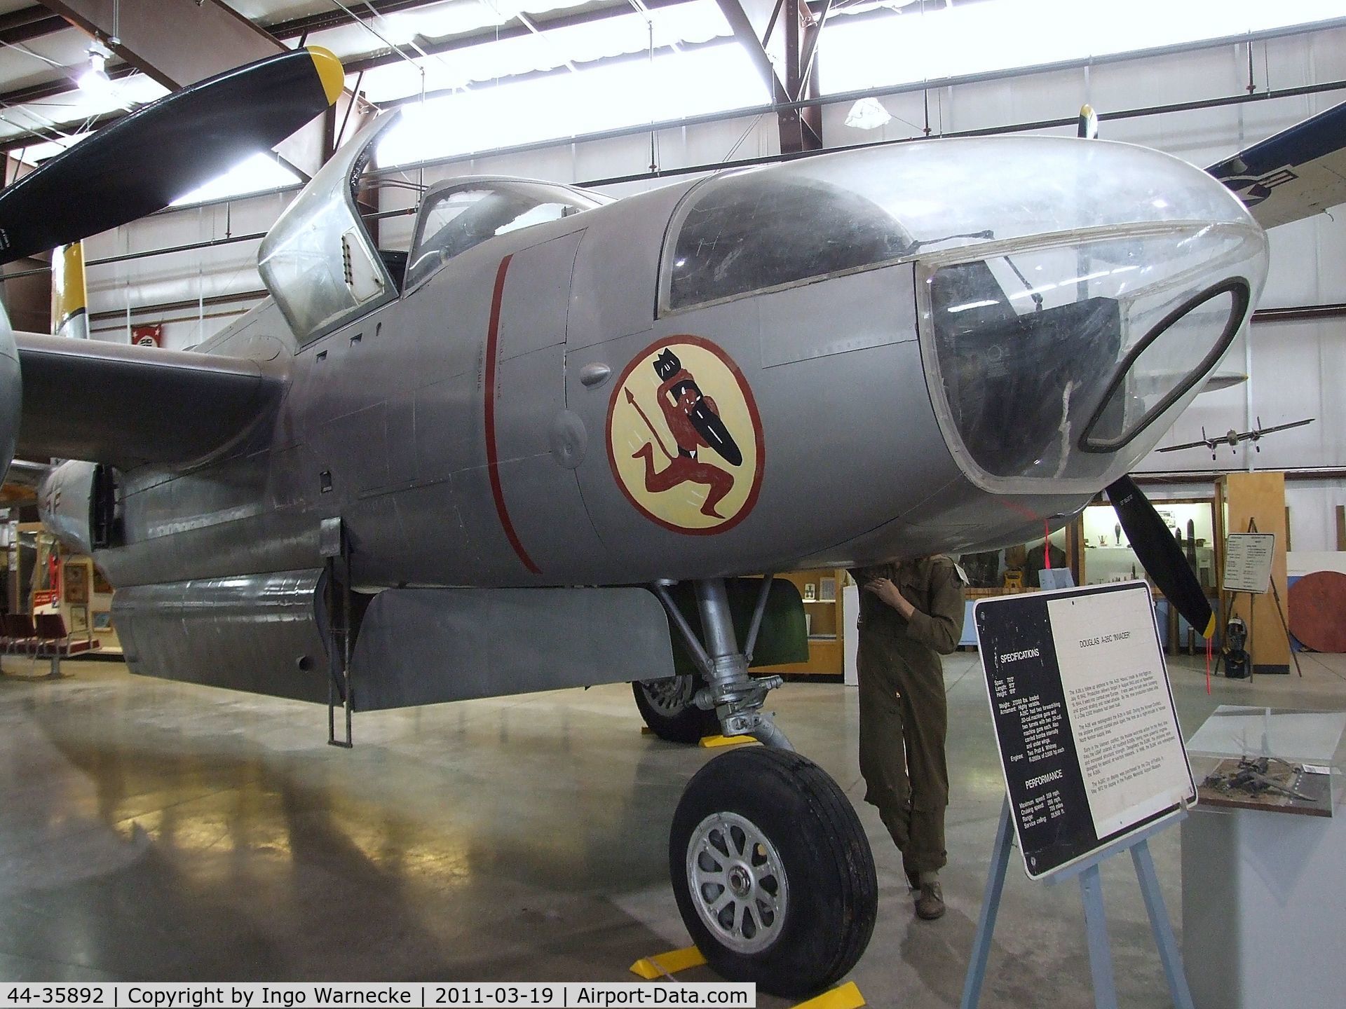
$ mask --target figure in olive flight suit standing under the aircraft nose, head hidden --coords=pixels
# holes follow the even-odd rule
[[[859,568],[860,772],[864,800],[902,852],[917,915],[944,915],[949,725],[940,655],[962,636],[962,576],[944,556]]]

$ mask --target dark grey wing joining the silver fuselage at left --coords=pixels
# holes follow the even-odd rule
[[[223,448],[273,408],[284,375],[215,354],[13,334],[23,369],[17,455],[132,470]],[[269,367],[269,366],[268,366]]]

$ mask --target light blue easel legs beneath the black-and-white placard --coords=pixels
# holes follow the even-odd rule
[[[1168,908],[1164,907],[1159,891],[1159,877],[1155,874],[1155,861],[1149,854],[1149,838],[1160,830],[1186,817],[1186,811],[1141,830],[1096,852],[1089,858],[1062,869],[1050,883],[1061,883],[1074,876],[1079,877],[1079,897],[1085,905],[1085,932],[1089,936],[1089,970],[1093,974],[1094,1006],[1097,1009],[1117,1009],[1117,986],[1112,975],[1112,948],[1108,944],[1108,922],[1102,905],[1102,879],[1098,866],[1108,858],[1131,852],[1140,880],[1140,893],[1149,912],[1149,928],[1155,934],[1159,959],[1168,979],[1168,992],[1176,1009],[1193,1009],[1187,977],[1182,970],[1182,955],[1168,923]],[[968,975],[962,983],[960,1009],[976,1009],[981,1001],[981,985],[987,978],[987,961],[991,957],[991,934],[996,927],[996,913],[1000,911],[1000,893],[1004,889],[1005,870],[1010,868],[1010,849],[1014,846],[1014,829],[1010,823],[1010,799],[1005,796],[1000,807],[1000,826],[996,830],[996,844],[991,858],[991,872],[987,876],[987,891],[981,899],[981,916],[977,920],[977,935],[972,943],[972,959]]]

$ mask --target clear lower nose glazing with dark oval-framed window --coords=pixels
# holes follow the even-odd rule
[[[950,449],[987,490],[1097,490],[1195,394],[1264,273],[1265,238],[1241,225],[926,268],[926,367]]]

